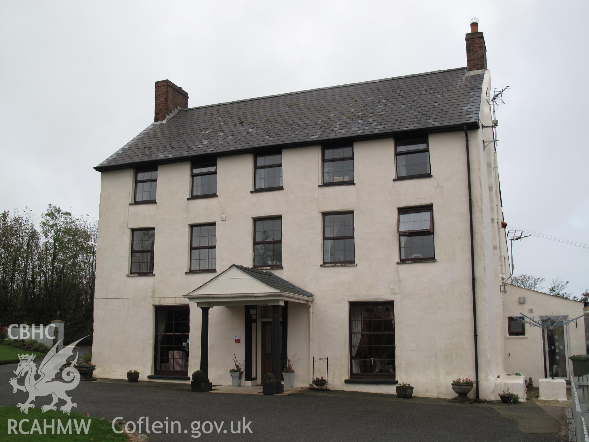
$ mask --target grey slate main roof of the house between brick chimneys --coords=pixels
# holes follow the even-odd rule
[[[474,128],[483,77],[458,68],[188,108],[151,123],[94,169],[399,131]]]

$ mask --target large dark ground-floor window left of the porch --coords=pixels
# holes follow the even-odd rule
[[[190,347],[190,308],[163,306],[155,308],[154,373],[188,374]]]

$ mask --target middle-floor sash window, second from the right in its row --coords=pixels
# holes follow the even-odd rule
[[[354,213],[323,214],[323,263],[353,263]]]

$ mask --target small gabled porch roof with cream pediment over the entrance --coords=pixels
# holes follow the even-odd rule
[[[313,301],[313,294],[272,272],[233,264],[226,271],[184,295],[184,298],[197,302],[199,307],[284,305],[284,301],[307,304]]]

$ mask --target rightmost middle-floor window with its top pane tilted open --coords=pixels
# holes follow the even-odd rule
[[[401,261],[434,259],[434,210],[399,209],[397,221]]]

